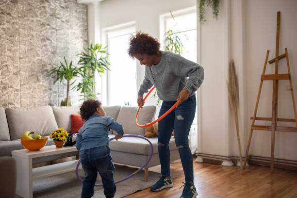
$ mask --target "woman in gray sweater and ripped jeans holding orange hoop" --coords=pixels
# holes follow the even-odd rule
[[[170,177],[169,140],[174,129],[175,144],[179,149],[185,183],[181,198],[195,198],[193,158],[188,136],[195,116],[195,92],[203,82],[202,66],[170,51],[161,51],[160,43],[148,33],[138,32],[130,37],[128,53],[145,65],[144,80],[138,91],[137,103],[142,104],[143,94],[154,85],[159,99],[163,100],[159,117],[179,100],[177,107],[158,123],[158,151],[162,177],[151,186],[159,191],[173,186]]]

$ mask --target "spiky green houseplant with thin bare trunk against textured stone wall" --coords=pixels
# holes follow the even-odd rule
[[[48,76],[51,76],[53,74],[56,74],[56,78],[54,83],[57,81],[62,82],[63,80],[67,81],[67,93],[66,93],[66,99],[61,101],[61,106],[68,106],[69,105],[69,90],[70,90],[70,85],[73,84],[73,82],[70,84],[70,81],[74,77],[78,77],[80,75],[80,69],[72,64],[72,61],[68,65],[66,58],[64,56],[64,62],[60,62],[60,66],[57,66],[49,71]],[[70,104],[71,106],[71,104]]]

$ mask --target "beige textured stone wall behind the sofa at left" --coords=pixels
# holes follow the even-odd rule
[[[76,0],[0,0],[0,106],[58,106],[66,81],[53,84],[49,70],[74,64],[87,45],[87,8]],[[72,104],[79,103],[70,91]]]

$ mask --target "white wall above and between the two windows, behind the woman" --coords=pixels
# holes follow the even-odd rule
[[[101,30],[135,21],[136,31],[149,33],[160,40],[160,15],[196,6],[196,0],[104,0],[99,4]],[[145,66],[137,62],[137,91],[144,78],[144,69]],[[156,105],[156,99],[148,97],[146,104]]]

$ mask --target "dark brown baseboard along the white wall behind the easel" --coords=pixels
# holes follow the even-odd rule
[[[213,155],[213,154],[207,154],[207,153],[196,153],[196,155],[197,155],[197,158],[195,160],[196,162],[210,163],[210,164],[216,164],[216,165],[226,165],[226,166],[232,166],[232,165],[240,166],[240,161],[238,156],[228,157],[223,155]],[[242,160],[244,161],[244,156],[242,157]],[[246,167],[248,165],[260,165],[260,166],[269,167],[270,158],[250,155],[247,158]],[[297,161],[275,158],[274,167],[286,169],[286,170],[297,170]]]

